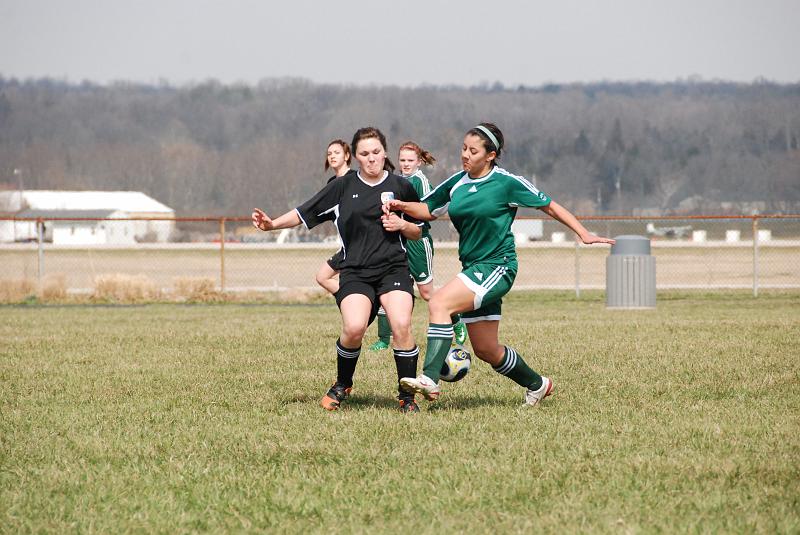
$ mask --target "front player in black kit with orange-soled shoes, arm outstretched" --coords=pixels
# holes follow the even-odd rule
[[[301,223],[313,228],[332,221],[339,232],[342,260],[335,297],[342,332],[336,341],[336,382],[320,401],[327,410],[337,410],[352,391],[361,341],[379,303],[392,326],[398,384],[400,379],[416,376],[419,357],[411,334],[414,294],[405,240],[419,239],[422,223],[383,211],[389,200],[418,202],[419,196],[408,180],[390,172],[394,166],[386,157],[386,138],[380,130],[359,129],[351,146],[360,165],[357,173],[329,182],[311,199],[274,220],[258,208],[252,215],[253,225],[265,231]],[[401,411],[419,411],[413,392],[398,391]]]

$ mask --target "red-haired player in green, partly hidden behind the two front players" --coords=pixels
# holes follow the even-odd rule
[[[420,147],[413,141],[406,141],[400,145],[398,151],[400,173],[407,178],[420,199],[431,192],[431,183],[422,172],[422,165],[433,165],[436,158],[433,154]],[[422,226],[422,237],[406,244],[408,250],[408,267],[411,276],[417,283],[419,295],[425,301],[430,301],[433,295],[433,238],[431,238],[430,224]],[[467,328],[458,315],[453,317],[453,331],[457,344],[463,344],[467,339]],[[381,351],[389,348],[392,329],[386,312],[383,308],[378,310],[378,341],[370,346],[370,351]]]

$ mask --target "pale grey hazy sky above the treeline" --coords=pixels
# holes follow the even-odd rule
[[[0,76],[800,82],[800,0],[0,0]]]

